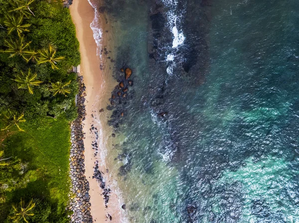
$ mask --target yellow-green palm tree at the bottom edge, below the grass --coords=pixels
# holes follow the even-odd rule
[[[13,209],[13,216],[10,217],[14,223],[19,223],[22,220],[24,220],[26,223],[28,223],[27,218],[29,216],[33,216],[34,214],[32,213],[32,209],[35,206],[35,203],[33,202],[33,200],[31,199],[31,201],[29,202],[29,204],[27,205],[27,207],[24,207],[25,204],[21,199],[21,202],[19,204],[19,207],[15,207],[14,205],[12,205],[12,209]]]

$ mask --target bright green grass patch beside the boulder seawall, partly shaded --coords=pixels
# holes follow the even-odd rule
[[[39,118],[22,125],[25,132],[15,132],[4,141],[6,157],[13,156],[27,163],[25,186],[7,192],[4,207],[10,209],[20,198],[47,202],[56,212],[51,218],[59,221],[69,192],[70,125],[65,118]],[[2,207],[1,207],[2,209]],[[2,212],[2,213],[1,213]],[[4,212],[4,213],[3,213]],[[0,210],[0,222],[8,212]],[[52,213],[54,214],[54,213]],[[1,219],[3,218],[3,219]]]

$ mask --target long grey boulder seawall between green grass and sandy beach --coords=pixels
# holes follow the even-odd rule
[[[85,119],[86,96],[83,76],[78,76],[79,93],[77,95],[78,117],[71,124],[71,150],[70,150],[70,178],[71,178],[71,199],[69,210],[73,211],[70,216],[71,223],[92,223],[93,219],[90,214],[90,195],[89,182],[84,173],[84,134],[82,121]]]

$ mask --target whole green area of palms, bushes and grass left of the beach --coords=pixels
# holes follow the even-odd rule
[[[66,223],[79,43],[59,0],[0,0],[0,222]]]

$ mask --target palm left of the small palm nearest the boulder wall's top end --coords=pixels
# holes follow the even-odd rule
[[[16,75],[14,80],[17,82],[18,88],[28,88],[29,93],[33,94],[31,86],[38,86],[40,83],[42,83],[40,80],[34,80],[36,76],[37,74],[31,74],[29,69],[28,74],[24,74],[21,71],[21,75]]]

